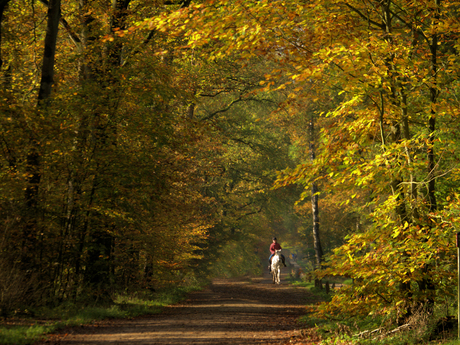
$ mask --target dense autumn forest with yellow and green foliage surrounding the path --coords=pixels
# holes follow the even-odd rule
[[[456,293],[455,1],[0,0],[0,308],[265,268]]]

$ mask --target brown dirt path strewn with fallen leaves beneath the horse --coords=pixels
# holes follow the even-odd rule
[[[270,279],[267,273],[250,281],[215,280],[161,314],[72,328],[45,344],[287,344],[299,334],[296,320],[315,298]]]

